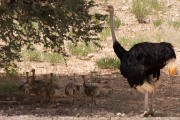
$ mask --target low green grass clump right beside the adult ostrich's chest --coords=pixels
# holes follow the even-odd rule
[[[118,69],[120,61],[117,58],[104,57],[96,60],[96,65],[101,69]]]

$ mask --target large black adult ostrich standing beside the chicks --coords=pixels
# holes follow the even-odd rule
[[[113,48],[121,61],[121,74],[127,78],[130,87],[145,94],[145,112],[143,116],[154,114],[152,108],[154,91],[160,77],[160,69],[169,64],[170,75],[177,73],[175,66],[176,55],[170,43],[143,42],[134,45],[129,51],[125,50],[117,41],[114,31],[114,8],[111,5],[104,7],[110,13],[110,29],[113,40]],[[148,104],[148,96],[151,95],[151,105]]]

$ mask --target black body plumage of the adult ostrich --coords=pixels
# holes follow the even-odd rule
[[[114,45],[114,51],[121,60],[121,74],[127,78],[131,87],[142,85],[145,81],[151,83],[149,75],[157,80],[162,69],[169,60],[175,59],[176,55],[170,43],[143,42],[134,45],[129,51],[121,50],[120,44]],[[119,51],[124,54],[119,55]],[[120,57],[121,56],[121,57]]]

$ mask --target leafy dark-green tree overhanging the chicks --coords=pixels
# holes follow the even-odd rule
[[[93,0],[1,0],[0,67],[20,61],[23,46],[34,44],[64,54],[64,41],[96,41],[102,30],[101,14],[90,14]]]

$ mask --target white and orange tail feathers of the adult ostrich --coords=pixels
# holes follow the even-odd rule
[[[174,76],[178,74],[177,63],[175,59],[168,61],[166,65],[167,74]]]

